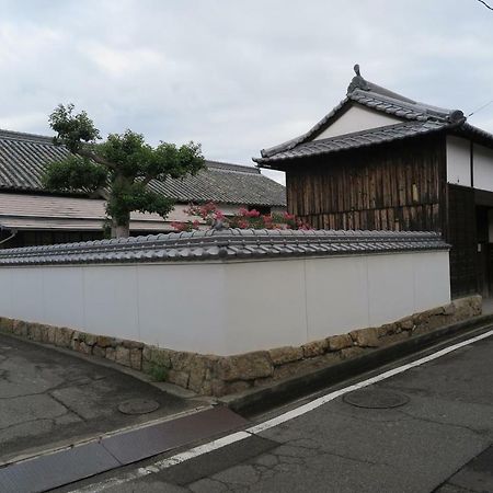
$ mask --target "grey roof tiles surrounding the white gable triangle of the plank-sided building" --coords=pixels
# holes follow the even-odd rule
[[[400,118],[402,123],[313,140],[332,122],[354,105]],[[278,161],[374,146],[437,130],[475,138],[482,144],[493,146],[493,135],[466,123],[466,117],[460,110],[446,110],[419,103],[357,76],[352,80],[346,98],[309,131],[287,142],[263,149],[261,151],[262,157],[254,158],[254,161],[268,168],[271,163]]]

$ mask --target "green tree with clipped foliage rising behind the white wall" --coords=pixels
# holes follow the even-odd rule
[[[112,223],[112,238],[129,234],[130,213],[157,213],[163,218],[174,203],[147,186],[151,180],[164,181],[196,174],[204,168],[200,145],[181,147],[160,142],[152,147],[144,136],[131,130],[110,134],[103,142],[92,119],[73,104],[60,104],[49,116],[56,133],[54,142],[65,146],[70,154],[48,163],[43,184],[57,192],[88,192],[106,199],[106,214]]]

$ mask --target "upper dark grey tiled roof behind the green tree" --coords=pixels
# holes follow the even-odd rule
[[[0,190],[46,192],[41,183],[46,163],[68,156],[50,137],[0,130]],[[252,167],[206,161],[196,176],[153,181],[154,192],[176,202],[285,206],[283,185]]]

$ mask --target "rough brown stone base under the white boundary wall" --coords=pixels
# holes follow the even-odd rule
[[[481,314],[481,297],[416,313],[378,328],[332,335],[302,346],[233,356],[176,352],[67,328],[0,318],[0,331],[95,355],[205,395],[226,395],[312,371],[413,335]]]

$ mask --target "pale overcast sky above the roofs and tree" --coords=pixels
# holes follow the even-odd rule
[[[50,134],[59,103],[102,130],[202,142],[253,164],[362,74],[466,114],[493,100],[478,0],[0,0],[0,128]],[[493,103],[469,118],[493,133]],[[277,176],[277,179],[282,179]]]

